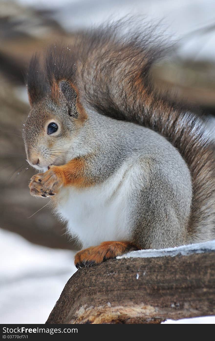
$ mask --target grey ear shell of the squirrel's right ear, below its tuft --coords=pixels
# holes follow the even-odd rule
[[[78,102],[77,97],[78,93],[75,89],[74,85],[70,83],[68,80],[61,80],[59,82],[60,91],[63,93],[63,96],[68,104],[69,115],[75,118],[78,117]]]

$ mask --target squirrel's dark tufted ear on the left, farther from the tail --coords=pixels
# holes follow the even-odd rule
[[[33,106],[42,100],[49,90],[49,85],[45,79],[45,75],[41,72],[39,58],[37,55],[34,55],[31,58],[29,68],[26,73],[26,85],[30,106]]]

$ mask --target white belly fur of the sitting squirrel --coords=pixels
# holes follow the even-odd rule
[[[135,187],[137,168],[123,165],[117,175],[87,189],[62,188],[57,200],[58,215],[67,221],[68,232],[78,238],[83,248],[108,240],[128,240],[128,198]]]

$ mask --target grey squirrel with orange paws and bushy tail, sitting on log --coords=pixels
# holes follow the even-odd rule
[[[120,25],[77,35],[31,59],[30,193],[50,197],[81,243],[77,268],[130,250],[215,237],[215,148],[200,117],[155,90],[165,48]]]

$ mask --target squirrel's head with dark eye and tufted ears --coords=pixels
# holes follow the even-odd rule
[[[87,119],[77,88],[71,79],[63,78],[51,68],[54,61],[49,56],[45,75],[35,56],[27,74],[31,109],[23,137],[28,163],[36,169],[45,170],[52,164],[61,165],[70,160],[72,155],[68,154]]]

